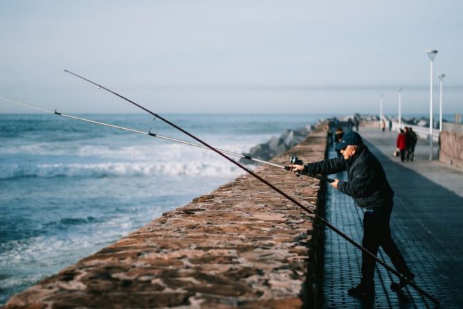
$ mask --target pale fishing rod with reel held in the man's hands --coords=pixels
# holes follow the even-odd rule
[[[183,141],[182,139],[174,139],[173,137],[170,137],[170,136],[157,134],[157,133],[152,132],[151,129],[148,132],[143,132],[143,131],[140,131],[140,130],[131,129],[129,127],[122,127],[120,125],[112,125],[111,123],[103,123],[101,121],[94,121],[94,120],[87,119],[87,118],[82,118],[82,117],[78,117],[78,116],[73,116],[73,115],[69,115],[69,114],[60,113],[60,112],[57,112],[57,109],[55,109],[55,112],[53,112],[51,110],[44,109],[42,107],[37,107],[37,106],[34,106],[34,105],[29,105],[29,104],[26,104],[26,103],[19,102],[17,100],[11,100],[9,98],[4,98],[3,96],[0,96],[0,99],[1,100],[6,100],[6,101],[8,101],[10,103],[15,103],[17,105],[22,105],[22,106],[25,106],[25,107],[30,107],[32,109],[37,109],[39,111],[46,112],[48,114],[54,114],[54,115],[57,115],[57,116],[63,116],[63,117],[66,117],[66,118],[75,119],[75,120],[78,120],[78,121],[84,121],[84,122],[87,122],[87,123],[93,123],[95,125],[104,125],[105,127],[113,127],[115,129],[119,129],[119,130],[124,130],[124,131],[128,131],[128,132],[143,134],[143,135],[147,135],[147,136],[156,137],[158,139],[165,139],[167,141],[173,141],[173,142],[176,142],[176,143],[182,143],[182,144],[185,144],[185,145],[190,145],[190,146],[193,146],[193,147],[210,150],[210,148],[206,147],[205,145],[201,145],[201,144],[198,144],[198,143],[192,143],[190,141]],[[219,150],[219,152],[230,154],[230,155],[233,155],[235,157],[248,159],[250,161],[255,161],[255,162],[259,162],[259,163],[266,164],[266,165],[269,165],[269,166],[274,166],[276,168],[283,168],[284,170],[291,170],[291,168],[289,166],[282,166],[280,164],[275,164],[275,163],[272,163],[272,162],[269,162],[269,161],[264,161],[262,159],[257,159],[255,157],[251,157],[251,156],[248,156],[246,154],[239,154],[237,152],[231,152],[229,150],[223,150],[223,149],[219,149],[219,148],[217,148],[217,150]],[[303,164],[303,162],[300,161],[298,159],[298,157],[294,157],[294,156],[291,157],[290,163],[291,164]],[[330,179],[330,178],[320,176],[320,175],[306,174],[306,173],[301,173],[301,174],[302,175],[307,175],[309,177],[317,178],[317,179],[320,179],[320,180],[325,180],[327,182],[334,182],[334,179]],[[299,176],[299,174],[296,174],[296,175]]]

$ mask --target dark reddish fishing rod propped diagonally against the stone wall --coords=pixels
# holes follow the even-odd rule
[[[66,73],[69,73],[71,74],[72,76],[75,76],[77,78],[80,78],[82,80],[85,80],[89,83],[91,83],[92,85],[95,85],[96,87],[98,87],[98,89],[104,89],[105,91],[108,91],[109,93],[111,94],[114,94],[115,96],[118,96],[119,98],[122,98],[122,100],[125,100],[127,101],[128,103],[131,103],[133,105],[135,105],[136,107],[140,108],[140,109],[143,109],[145,112],[149,113],[149,114],[152,114],[152,116],[158,118],[158,119],[161,119],[161,121],[167,123],[167,125],[170,125],[172,127],[174,127],[176,130],[179,130],[181,132],[183,132],[184,134],[190,136],[192,139],[196,140],[196,141],[199,141],[199,143],[205,145],[207,148],[209,148],[210,150],[214,151],[214,152],[217,152],[217,154],[219,154],[221,157],[224,157],[225,159],[227,159],[228,161],[230,161],[231,163],[235,164],[236,166],[238,166],[239,168],[241,168],[242,170],[245,170],[248,174],[252,175],[253,177],[257,178],[260,180],[260,182],[266,184],[267,186],[269,186],[270,188],[272,188],[275,192],[277,193],[280,193],[280,195],[286,197],[288,200],[290,200],[291,202],[293,202],[293,204],[296,204],[296,206],[300,207],[300,209],[303,209],[304,211],[306,211],[307,213],[310,213],[311,215],[314,215],[314,217],[318,220],[320,220],[320,222],[322,222],[323,224],[325,224],[325,226],[329,227],[329,229],[332,229],[332,231],[334,231],[335,233],[338,233],[339,236],[343,237],[345,240],[347,240],[348,242],[350,242],[352,245],[354,245],[355,247],[357,247],[358,249],[360,249],[361,251],[363,251],[365,254],[367,254],[368,256],[370,256],[371,258],[374,258],[374,260],[376,262],[378,262],[379,264],[383,265],[383,267],[385,267],[387,270],[389,270],[390,272],[392,272],[392,274],[396,275],[399,277],[399,279],[403,279],[405,280],[408,285],[412,286],[413,288],[415,288],[415,290],[417,290],[421,295],[424,295],[425,297],[427,297],[428,299],[430,299],[431,301],[433,301],[435,304],[436,304],[436,308],[439,308],[439,301],[437,299],[435,299],[433,296],[431,296],[430,294],[428,294],[427,292],[425,292],[424,290],[421,290],[421,288],[419,288],[418,285],[416,285],[413,281],[411,281],[410,279],[408,279],[406,276],[404,276],[403,274],[401,274],[400,272],[397,272],[397,270],[394,270],[392,267],[390,267],[388,264],[386,264],[384,261],[382,261],[381,259],[379,259],[377,256],[375,256],[374,254],[372,254],[370,251],[368,251],[367,249],[365,249],[365,247],[363,247],[362,245],[359,245],[357,242],[355,242],[352,238],[349,238],[349,236],[347,236],[345,233],[343,233],[341,230],[337,229],[336,227],[334,227],[334,225],[332,225],[331,223],[327,222],[327,220],[325,220],[324,218],[322,218],[320,215],[318,215],[317,213],[315,213],[314,211],[311,211],[310,209],[308,209],[306,206],[302,205],[300,202],[298,202],[297,200],[295,200],[293,197],[291,197],[290,195],[288,195],[287,193],[284,193],[282,190],[280,190],[280,188],[277,188],[276,186],[274,186],[273,184],[271,184],[270,182],[266,181],[264,178],[260,177],[259,175],[255,174],[252,170],[249,170],[248,168],[246,168],[246,166],[243,166],[242,164],[239,164],[239,162],[231,159],[230,157],[228,157],[226,154],[220,152],[219,150],[217,150],[216,148],[212,147],[212,145],[209,145],[208,143],[206,143],[205,141],[202,141],[201,139],[199,139],[197,136],[194,136],[193,134],[191,134],[190,132],[184,130],[183,128],[179,127],[178,125],[168,121],[166,118],[162,117],[162,116],[159,116],[158,114],[150,111],[149,109],[147,109],[146,107],[143,107],[142,105],[139,105],[138,103],[135,103],[133,100],[129,100],[129,98],[126,98],[125,96],[122,96],[120,94],[118,94],[117,92],[115,91],[112,91],[111,89],[108,89],[102,85],[99,85],[97,84],[96,82],[93,82],[87,78],[84,78],[76,73],[73,73],[69,70],[64,70],[64,72]],[[395,286],[395,285],[394,285]]]

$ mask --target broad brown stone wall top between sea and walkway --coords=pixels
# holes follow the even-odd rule
[[[326,133],[314,130],[273,161],[316,161],[325,149]],[[314,211],[323,204],[318,179],[271,166],[255,173]],[[15,295],[6,308],[310,307],[316,226],[245,175]]]

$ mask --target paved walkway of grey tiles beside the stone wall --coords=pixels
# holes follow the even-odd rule
[[[392,236],[416,275],[415,283],[439,299],[440,308],[463,308],[463,172],[428,161],[427,141],[419,141],[415,161],[401,163],[392,157],[396,133],[362,127],[360,133],[394,190]],[[350,197],[329,187],[329,222],[361,242],[362,218]],[[361,251],[332,231],[325,233],[324,308],[366,308],[346,292],[360,280]],[[380,256],[392,265],[381,250]],[[370,308],[434,307],[412,288],[392,292],[389,285],[397,278],[382,266],[376,268],[376,298]]]

